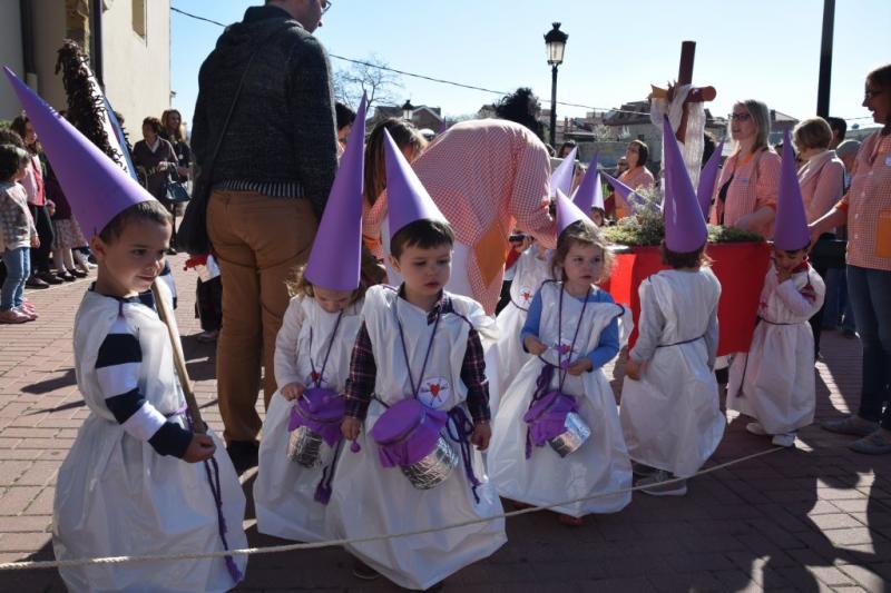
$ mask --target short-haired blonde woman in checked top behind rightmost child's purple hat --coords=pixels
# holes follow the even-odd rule
[[[844,164],[829,149],[832,142],[832,128],[823,118],[805,119],[792,130],[792,142],[804,165],[799,169],[799,184],[804,199],[804,211],[807,221],[813,223],[826,214],[842,197],[844,190]],[[834,235],[826,234],[825,239]],[[826,261],[812,254],[814,269],[826,278]],[[814,353],[820,354],[820,334],[822,329],[823,308],[811,317],[811,329],[814,333]]]

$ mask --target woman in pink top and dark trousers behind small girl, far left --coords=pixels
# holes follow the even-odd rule
[[[31,155],[31,165],[25,172],[21,185],[28,195],[28,208],[31,210],[31,218],[35,219],[37,234],[40,237],[40,247],[31,249],[31,277],[28,278],[26,286],[29,288],[49,288],[51,284],[61,284],[65,278],[52,274],[50,270],[50,251],[52,250],[52,209],[55,205],[47,199],[43,186],[43,164],[40,161],[40,154],[43,148],[37,138],[31,121],[27,116],[19,116],[10,125],[12,130],[25,140],[25,147]]]

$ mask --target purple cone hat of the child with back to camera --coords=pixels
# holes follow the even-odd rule
[[[665,152],[665,246],[681,254],[695,251],[708,240],[708,228],[667,117],[663,119],[662,144]]]

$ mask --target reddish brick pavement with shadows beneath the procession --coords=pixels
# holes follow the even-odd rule
[[[214,405],[214,348],[195,342],[195,277],[182,273],[177,317],[206,419]],[[87,409],[74,375],[71,329],[87,280],[30,291],[41,318],[0,327],[0,562],[52,557],[56,472]],[[859,397],[860,348],[824,335],[817,417],[836,417]],[[766,448],[734,418],[713,463]],[[446,590],[500,591],[885,591],[891,582],[891,456],[858,455],[816,427],[783,451],[691,483],[683,498],[636,495],[621,513],[579,528],[538,513],[508,522],[509,543],[451,576]],[[246,490],[252,480],[246,477]],[[258,534],[252,545],[281,540]],[[239,591],[393,591],[356,581],[340,550],[254,556]],[[62,591],[53,571],[0,573],[0,591]]]

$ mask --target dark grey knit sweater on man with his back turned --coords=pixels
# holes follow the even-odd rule
[[[337,167],[331,66],[319,40],[281,8],[248,8],[202,65],[192,131],[198,175],[213,156],[238,81],[261,42],[210,186],[305,197],[321,216]]]

